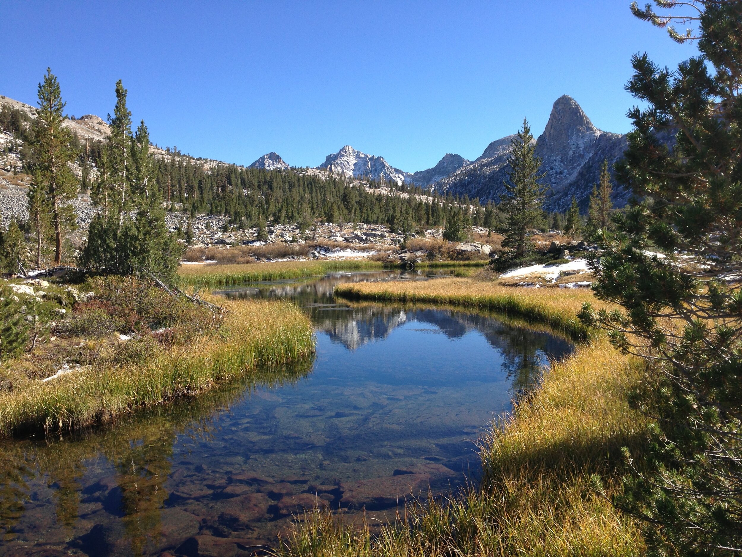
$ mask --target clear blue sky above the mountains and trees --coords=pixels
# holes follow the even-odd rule
[[[36,104],[50,66],[68,114],[113,110],[123,79],[152,140],[249,164],[317,166],[346,144],[408,172],[474,159],[571,95],[628,131],[632,53],[695,52],[629,0],[2,1],[0,94]]]

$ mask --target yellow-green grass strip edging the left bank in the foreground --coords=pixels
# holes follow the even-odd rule
[[[218,333],[174,344],[143,363],[93,365],[49,382],[16,382],[13,391],[0,393],[0,434],[90,426],[313,353],[309,319],[293,305],[220,303],[229,313]]]

